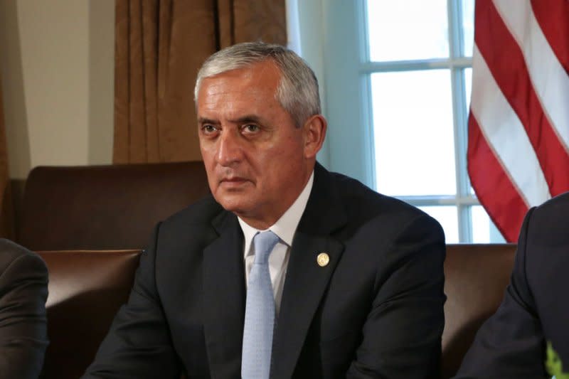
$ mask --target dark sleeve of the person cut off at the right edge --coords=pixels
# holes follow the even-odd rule
[[[526,273],[526,247],[534,209],[523,221],[504,300],[479,329],[455,378],[546,378],[545,340]]]

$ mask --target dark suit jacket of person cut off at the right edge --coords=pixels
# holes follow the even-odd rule
[[[456,378],[545,378],[546,341],[569,372],[568,290],[565,193],[528,211],[504,300],[478,331]]]

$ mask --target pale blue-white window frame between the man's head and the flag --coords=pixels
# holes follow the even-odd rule
[[[370,61],[366,0],[288,0],[288,3],[294,3],[294,11],[288,15],[289,24],[295,25],[297,35],[301,36],[300,41],[296,41],[297,49],[317,73],[324,114],[329,121],[319,161],[331,171],[356,178],[370,188],[376,189],[371,74],[450,70],[457,195],[398,198],[415,206],[456,206],[459,242],[472,242],[471,209],[472,205],[479,205],[479,201],[470,193],[466,169],[468,110],[462,70],[472,67],[472,58],[461,57],[464,49],[461,2],[447,0],[449,58],[404,62]],[[504,241],[493,225],[491,241]]]

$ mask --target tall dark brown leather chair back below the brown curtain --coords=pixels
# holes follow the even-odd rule
[[[159,220],[208,192],[201,161],[36,167],[16,241],[36,251],[140,249]]]

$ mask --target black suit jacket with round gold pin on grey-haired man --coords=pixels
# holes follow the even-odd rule
[[[243,243],[237,217],[211,197],[161,223],[85,378],[240,378]],[[317,165],[271,378],[437,377],[444,259],[435,220]]]

